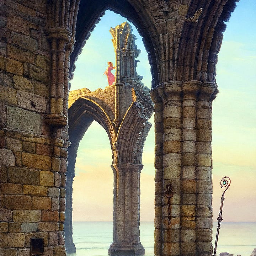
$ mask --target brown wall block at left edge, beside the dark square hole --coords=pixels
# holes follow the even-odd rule
[[[7,233],[0,234],[0,247],[12,248],[12,247],[24,247],[25,234],[23,233]]]

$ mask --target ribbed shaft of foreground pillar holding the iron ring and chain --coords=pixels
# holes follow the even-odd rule
[[[181,86],[176,82],[156,87],[163,100],[163,182],[162,189],[162,254],[180,255],[180,211],[181,211],[181,143],[182,101]],[[171,224],[167,220],[166,185],[171,183],[174,196],[171,198]]]

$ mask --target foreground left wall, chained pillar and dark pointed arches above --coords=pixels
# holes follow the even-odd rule
[[[106,9],[138,27],[149,53],[155,102],[155,255],[212,255],[215,66],[224,22],[236,1],[1,1],[1,256],[30,255],[31,241],[36,241],[30,238],[43,239],[44,256],[66,255],[69,80],[81,48]],[[181,20],[200,7],[198,23]],[[113,115],[118,127],[122,114],[119,119],[118,112]],[[139,154],[133,163],[137,166]],[[120,156],[121,151],[115,157]],[[135,153],[126,163],[128,159],[135,160]],[[166,183],[172,183],[174,191],[171,225]]]

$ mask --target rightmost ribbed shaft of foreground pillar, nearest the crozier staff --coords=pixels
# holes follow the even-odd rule
[[[203,82],[197,98],[196,159],[196,250],[197,255],[212,255],[212,101],[216,84]]]

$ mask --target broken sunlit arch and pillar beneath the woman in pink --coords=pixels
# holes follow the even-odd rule
[[[68,171],[66,185],[66,250],[72,242],[72,182],[79,142],[93,120],[105,128],[113,154],[114,232],[110,255],[144,255],[139,239],[140,171],[142,151],[154,110],[149,89],[136,72],[140,50],[131,26],[124,22],[111,28],[116,51],[116,83],[105,90],[71,91],[69,94]]]

